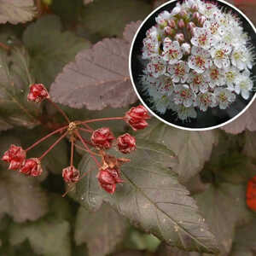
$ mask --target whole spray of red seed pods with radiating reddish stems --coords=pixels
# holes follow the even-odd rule
[[[47,136],[38,140],[38,142],[33,143],[29,148],[23,149],[20,146],[11,145],[9,150],[7,150],[2,157],[2,160],[9,163],[9,170],[17,170],[23,174],[31,177],[37,177],[42,174],[43,169],[41,166],[41,161],[44,156],[49,153],[49,151],[54,148],[64,137],[68,137],[71,142],[71,157],[70,166],[67,166],[62,170],[62,177],[64,181],[70,185],[77,183],[81,178],[79,170],[73,166],[73,149],[74,147],[81,148],[76,142],[79,140],[84,148],[85,152],[89,153],[93,160],[96,162],[96,166],[99,170],[97,174],[98,181],[102,187],[108,193],[113,194],[116,189],[117,183],[123,183],[120,177],[119,167],[125,162],[129,162],[126,158],[115,158],[113,155],[107,154],[106,150],[112,148],[113,146],[117,148],[123,154],[129,154],[136,150],[136,139],[132,137],[129,133],[115,138],[113,132],[110,131],[108,127],[102,127],[97,130],[93,130],[90,127],[90,123],[108,120],[123,120],[134,131],[144,129],[148,126],[146,119],[149,119],[148,111],[142,105],[131,108],[125,113],[123,117],[113,117],[113,118],[102,118],[102,119],[89,119],[84,121],[71,121],[67,114],[64,113],[55,102],[52,102],[49,96],[48,90],[44,87],[44,84],[32,84],[30,86],[30,91],[27,96],[27,100],[31,102],[42,102],[44,99],[48,100],[55,108],[63,115],[67,120],[67,124],[61,128],[50,132]],[[90,141],[84,139],[80,132],[90,133]],[[45,152],[38,158],[26,159],[27,151],[36,147],[39,143],[42,143],[48,137],[51,137],[57,133],[61,133],[55,143],[53,143]],[[91,148],[95,148],[92,151]],[[102,162],[100,162],[97,157],[100,157]]]

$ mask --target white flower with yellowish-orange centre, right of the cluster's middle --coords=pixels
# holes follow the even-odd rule
[[[230,52],[232,47],[229,44],[220,43],[211,49],[214,64],[218,68],[230,67]]]

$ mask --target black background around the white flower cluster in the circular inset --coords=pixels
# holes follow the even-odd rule
[[[242,26],[244,28],[244,31],[246,31],[250,37],[252,38],[252,44],[256,46],[256,35],[253,31],[253,27],[250,26],[250,24],[247,22],[247,20],[236,12],[236,10],[231,9],[230,6],[220,3],[218,1],[215,1],[218,3],[218,6],[223,6],[227,10],[232,10],[233,13],[238,15],[240,17],[240,20],[242,22]],[[156,24],[155,17],[159,15],[162,11],[167,10],[171,11],[176,6],[177,1],[166,4],[164,7],[158,9],[156,12],[154,12],[153,15],[151,15],[148,20],[143,24],[143,27],[140,29],[140,32],[137,33],[137,38],[133,44],[133,49],[131,52],[131,73],[134,80],[134,83],[137,87],[137,91],[139,95],[142,97],[143,102],[160,118],[165,119],[167,122],[172,123],[174,125],[179,125],[183,127],[188,128],[207,128],[215,125],[223,124],[224,122],[228,121],[229,119],[232,119],[235,117],[238,113],[243,110],[247,104],[252,100],[254,93],[255,93],[255,83],[253,85],[253,91],[251,92],[251,96],[248,100],[244,100],[241,96],[236,95],[236,102],[233,102],[229,108],[226,109],[219,109],[217,108],[208,108],[206,112],[202,112],[198,110],[197,108],[197,118],[196,119],[189,119],[189,121],[183,121],[181,119],[177,118],[177,114],[173,112],[172,110],[167,110],[165,114],[161,114],[156,112],[154,109],[152,109],[152,105],[149,102],[149,97],[145,96],[142,91],[142,84],[140,84],[139,79],[141,75],[143,75],[143,63],[141,61],[141,52],[143,49],[143,38],[146,37],[146,32],[148,29]],[[254,74],[256,74],[256,67],[254,66],[252,71]]]

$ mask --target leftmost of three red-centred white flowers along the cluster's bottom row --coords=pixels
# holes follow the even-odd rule
[[[189,88],[188,84],[179,84],[175,88],[175,104],[183,104],[186,108],[191,107],[195,102],[195,93]]]

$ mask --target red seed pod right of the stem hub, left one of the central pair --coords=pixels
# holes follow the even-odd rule
[[[108,127],[102,127],[93,131],[92,136],[90,137],[91,143],[93,143],[97,148],[104,149],[111,148],[113,140],[113,133]]]

